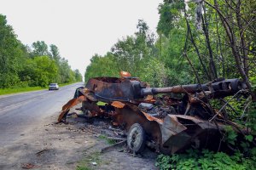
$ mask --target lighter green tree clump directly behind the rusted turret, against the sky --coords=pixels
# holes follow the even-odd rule
[[[113,45],[112,52],[104,56],[95,54],[85,72],[85,82],[90,77],[119,77],[119,71],[128,71],[133,77],[140,77],[151,86],[167,85],[169,70],[157,58],[154,46],[154,34],[148,25],[139,20],[137,32],[127,36]]]

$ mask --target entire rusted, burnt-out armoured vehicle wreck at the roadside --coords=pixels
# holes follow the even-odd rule
[[[209,102],[247,94],[246,84],[239,79],[150,88],[128,72],[121,71],[120,76],[91,78],[85,87],[77,88],[74,98],[62,107],[58,122],[65,122],[70,108],[82,103],[85,116],[110,117],[113,126],[125,127],[127,145],[136,153],[145,145],[166,154],[189,147],[218,150],[225,126],[241,131],[224,113],[227,104],[216,110]]]

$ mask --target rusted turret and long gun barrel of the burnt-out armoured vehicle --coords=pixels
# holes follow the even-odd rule
[[[116,77],[91,78],[86,89],[90,90],[96,99],[102,101],[126,101],[144,99],[147,95],[154,94],[196,94],[207,91],[211,98],[226,97],[236,94],[239,90],[246,88],[244,82],[239,79],[219,79],[206,84],[186,84],[167,88],[148,88],[144,82],[138,80],[120,80]]]

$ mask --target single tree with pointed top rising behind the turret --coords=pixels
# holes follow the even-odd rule
[[[154,34],[148,30],[147,23],[138,20],[137,29],[134,36],[116,42],[111,51],[120,71],[139,76],[148,59],[157,56],[157,50],[154,47]]]

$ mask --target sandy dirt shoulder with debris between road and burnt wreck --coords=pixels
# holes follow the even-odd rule
[[[15,144],[1,147],[0,169],[157,169],[156,154],[149,150],[143,156],[126,152],[125,146],[101,153],[110,145],[100,138],[108,135],[108,122],[71,117],[67,124],[55,124],[57,116],[32,124]]]

